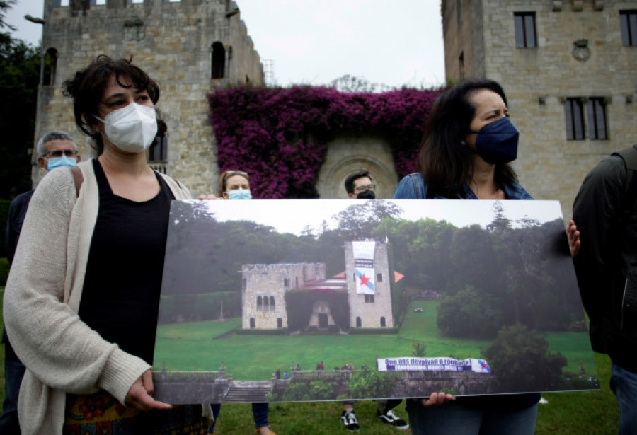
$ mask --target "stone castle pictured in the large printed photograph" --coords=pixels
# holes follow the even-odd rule
[[[296,289],[343,290],[348,292],[349,327],[394,327],[391,290],[394,273],[389,269],[386,243],[374,247],[374,294],[360,294],[356,287],[353,244],[345,243],[345,272],[326,279],[323,263],[243,265],[241,267],[241,327],[243,329],[287,328],[285,294]],[[307,326],[327,330],[336,326],[328,301],[316,301]]]

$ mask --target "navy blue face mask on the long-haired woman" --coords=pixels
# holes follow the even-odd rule
[[[517,140],[520,132],[507,117],[486,124],[476,137],[476,152],[484,161],[493,165],[509,163],[517,157]]]

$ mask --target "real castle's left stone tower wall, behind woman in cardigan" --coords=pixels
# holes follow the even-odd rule
[[[57,50],[57,70],[52,83],[39,89],[36,141],[47,131],[64,129],[73,134],[81,155],[90,158],[88,140],[76,130],[62,83],[98,54],[132,56],[161,87],[156,108],[168,125],[167,173],[184,182],[193,195],[214,190],[219,171],[206,95],[214,86],[229,83],[263,84],[258,53],[236,4],[108,0],[107,5],[83,12],[55,3],[45,0],[42,50]],[[226,51],[222,80],[211,79],[213,42],[222,42]],[[34,184],[42,175],[34,162]]]

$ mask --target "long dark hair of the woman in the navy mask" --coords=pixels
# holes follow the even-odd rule
[[[488,89],[500,95],[505,105],[507,97],[502,86],[493,80],[470,80],[442,93],[435,101],[423,134],[416,170],[423,174],[427,187],[444,197],[464,195],[464,185],[474,175],[474,150],[464,144],[471,131],[476,107],[471,95]],[[495,166],[495,182],[502,187],[507,181],[517,181],[509,164]]]

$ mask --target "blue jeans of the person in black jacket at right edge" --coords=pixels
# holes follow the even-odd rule
[[[619,407],[619,435],[637,434],[637,373],[612,361],[610,387]]]

